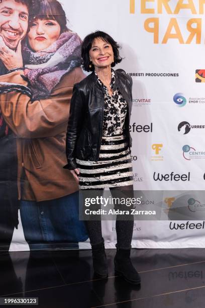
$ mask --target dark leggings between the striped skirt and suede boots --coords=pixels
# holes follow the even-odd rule
[[[129,196],[133,196],[133,185],[110,187],[113,197],[119,196],[119,190],[122,192],[128,191]],[[103,193],[103,190],[102,190]],[[133,215],[132,215],[133,217]],[[90,244],[95,245],[102,242],[101,220],[86,220],[85,221]],[[120,249],[130,249],[133,236],[134,218],[132,220],[118,220],[116,219],[116,233],[117,233],[117,245]]]

